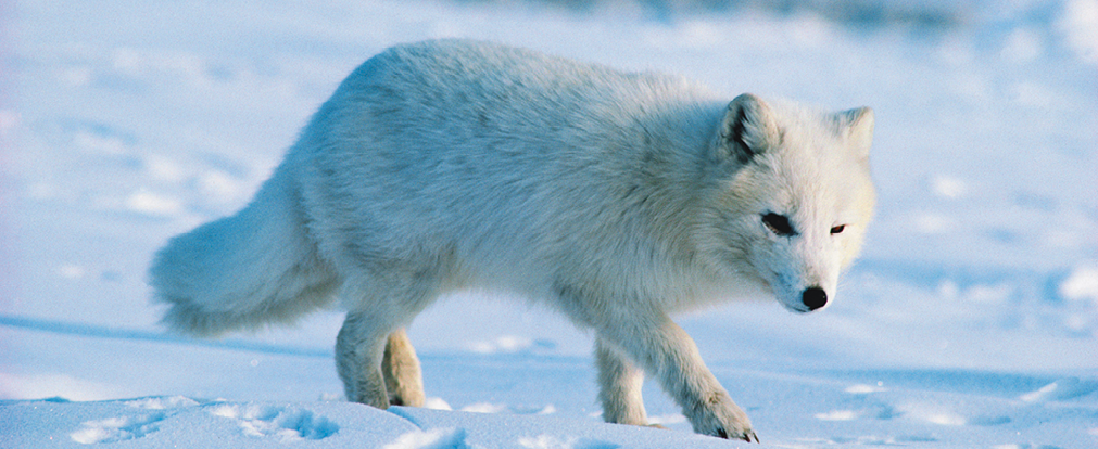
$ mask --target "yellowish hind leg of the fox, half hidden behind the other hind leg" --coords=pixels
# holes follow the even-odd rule
[[[423,406],[423,373],[419,370],[419,359],[403,328],[389,334],[384,356],[381,359],[381,374],[385,379],[389,404]]]

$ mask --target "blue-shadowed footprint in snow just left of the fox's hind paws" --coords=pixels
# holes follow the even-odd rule
[[[282,442],[323,439],[339,430],[339,426],[323,416],[290,407],[221,404],[211,407],[210,414],[236,420],[244,435],[273,437]]]

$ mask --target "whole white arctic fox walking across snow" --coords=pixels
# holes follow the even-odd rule
[[[874,206],[867,108],[826,113],[679,77],[469,41],[356,69],[236,215],[172,238],[152,285],[212,336],[341,301],[347,399],[422,405],[404,327],[439,295],[508,291],[596,336],[603,417],[647,425],[642,373],[695,431],[755,440],[669,314],[834,299]]]

